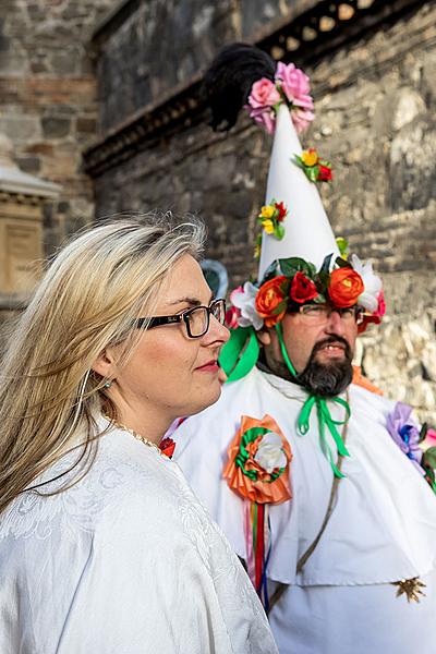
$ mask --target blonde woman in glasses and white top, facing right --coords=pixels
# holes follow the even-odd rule
[[[198,222],[121,220],[56,258],[0,386],[0,652],[276,652],[239,561],[158,448],[228,338]],[[205,435],[207,447],[207,435]]]

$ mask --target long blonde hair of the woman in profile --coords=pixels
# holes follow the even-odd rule
[[[132,353],[141,335],[132,323],[153,308],[182,255],[199,257],[204,235],[197,219],[122,217],[56,257],[10,334],[0,371],[0,512],[70,443],[86,437],[93,449],[93,416],[109,401],[93,363],[113,343]]]

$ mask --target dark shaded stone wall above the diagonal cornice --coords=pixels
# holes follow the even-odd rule
[[[289,14],[283,0],[142,0],[131,5],[119,27],[107,25],[96,38],[102,132],[189,82],[222,44],[247,39],[271,19]]]

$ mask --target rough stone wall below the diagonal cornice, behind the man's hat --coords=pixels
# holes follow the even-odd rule
[[[113,60],[117,34],[111,39]],[[160,60],[150,57],[152,70]],[[384,274],[388,316],[363,336],[359,359],[388,395],[435,420],[436,7],[423,3],[306,72],[317,119],[304,142],[334,162],[335,183],[323,197],[335,231]],[[135,106],[129,101],[125,112]],[[109,106],[101,116],[112,123]],[[97,214],[199,213],[209,229],[207,255],[225,263],[235,284],[255,272],[255,214],[269,149],[270,138],[246,119],[228,136],[189,128],[96,178]]]

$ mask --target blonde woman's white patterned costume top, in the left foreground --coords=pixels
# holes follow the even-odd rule
[[[249,578],[179,467],[124,431],[101,436],[76,485],[26,492],[0,520],[1,654],[277,652]]]

